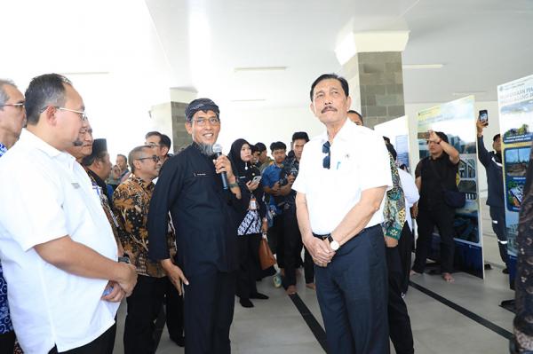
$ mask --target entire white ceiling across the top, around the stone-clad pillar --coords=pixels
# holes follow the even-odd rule
[[[444,65],[404,70],[407,104],[496,100],[533,73],[533,0],[2,0],[0,13],[0,77],[23,89],[67,73],[106,122],[146,120],[170,88],[233,110],[307,106],[314,78],[341,72],[347,31],[408,29],[403,63]],[[262,100],[234,102],[247,99]]]

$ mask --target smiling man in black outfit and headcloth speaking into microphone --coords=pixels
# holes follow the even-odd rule
[[[193,143],[161,170],[148,214],[148,251],[151,259],[161,262],[179,293],[182,282],[187,286],[183,290],[187,353],[229,353],[236,235],[247,206],[230,161],[225,155],[213,155],[220,131],[219,106],[209,98],[198,98],[185,114]],[[227,189],[220,174],[227,177]],[[166,238],[169,211],[176,230],[175,259]]]

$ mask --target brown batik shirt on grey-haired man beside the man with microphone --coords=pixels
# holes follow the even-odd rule
[[[131,174],[113,193],[113,202],[117,211],[120,240],[124,252],[130,256],[131,264],[135,265],[140,275],[162,278],[166,274],[159,262],[148,259],[147,219],[150,200],[155,185],[147,183]],[[175,254],[174,232],[167,226],[167,241],[171,255]]]

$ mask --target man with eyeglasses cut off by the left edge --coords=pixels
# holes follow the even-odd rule
[[[20,137],[20,130],[26,121],[24,95],[14,83],[0,79],[0,157]],[[12,353],[15,332],[9,316],[7,284],[0,264],[0,352]]]

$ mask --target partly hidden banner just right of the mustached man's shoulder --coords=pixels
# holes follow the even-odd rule
[[[378,124],[374,130],[383,137],[389,138],[394,150],[398,154],[396,161],[399,167],[410,169],[409,166],[409,130],[407,116],[402,116],[388,122]]]

